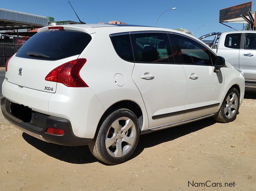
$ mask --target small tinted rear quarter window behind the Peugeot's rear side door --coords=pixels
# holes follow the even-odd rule
[[[126,61],[134,61],[129,35],[117,35],[111,37],[116,53]]]

